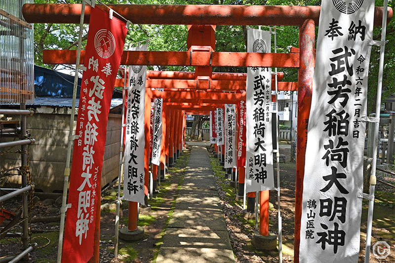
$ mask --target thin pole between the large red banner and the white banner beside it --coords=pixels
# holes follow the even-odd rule
[[[118,234],[119,234],[119,208],[120,208],[120,184],[122,182],[121,175],[123,175],[123,118],[125,114],[125,88],[126,88],[126,67],[124,69],[124,81],[122,90],[122,126],[120,134],[120,148],[119,148],[119,174],[118,174],[118,198],[117,198],[117,212],[115,216],[115,248],[114,248],[114,258],[118,257]]]

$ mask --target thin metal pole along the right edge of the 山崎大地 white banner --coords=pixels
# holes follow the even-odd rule
[[[274,35],[275,35],[275,53],[277,53],[277,31],[276,26],[274,26]],[[282,263],[282,220],[281,220],[281,212],[280,212],[280,149],[278,145],[278,85],[277,85],[277,68],[275,68],[275,85],[276,85],[276,157],[277,157],[277,217],[278,217],[278,262]],[[292,109],[292,105],[291,105]],[[292,116],[291,116],[292,119]],[[292,127],[291,127],[292,133]],[[292,135],[292,134],[291,134]]]

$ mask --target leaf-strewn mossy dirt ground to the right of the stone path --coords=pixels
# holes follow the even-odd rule
[[[280,200],[282,217],[282,260],[293,262],[294,252],[294,214],[295,214],[295,171],[296,164],[289,162],[290,149],[281,149],[280,153],[287,156],[286,163],[280,163]],[[246,220],[242,217],[242,200],[235,200],[235,189],[229,186],[225,179],[222,167],[219,166],[217,158],[210,155],[213,171],[217,179],[217,187],[223,206],[229,235],[238,263],[267,263],[278,262],[278,251],[263,252],[252,246],[253,233],[255,231],[255,220]],[[392,178],[384,178],[392,182]],[[375,205],[373,213],[372,246],[377,241],[386,241],[394,248],[395,240],[395,207],[394,188],[378,185],[375,193]],[[277,194],[270,191],[269,207],[269,231],[277,235]],[[363,201],[361,219],[361,242],[359,251],[359,263],[364,262],[366,222],[367,222],[367,200]],[[388,258],[376,259],[372,254],[371,263],[395,262],[395,249],[391,250]]]

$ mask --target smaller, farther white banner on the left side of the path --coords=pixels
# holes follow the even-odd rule
[[[162,88],[158,90],[163,91]],[[163,99],[156,98],[151,160],[154,165],[159,165],[160,162],[160,146],[162,144],[162,105]]]

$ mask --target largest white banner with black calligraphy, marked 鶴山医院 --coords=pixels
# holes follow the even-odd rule
[[[358,262],[373,0],[322,1],[299,261]]]

